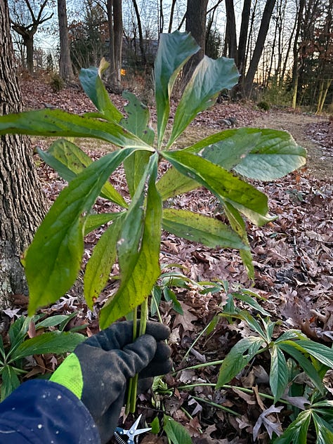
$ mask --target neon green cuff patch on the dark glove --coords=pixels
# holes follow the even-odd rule
[[[52,374],[50,381],[65,386],[72,391],[77,398],[81,399],[83,390],[83,376],[79,358],[71,353],[64,362],[59,365]]]

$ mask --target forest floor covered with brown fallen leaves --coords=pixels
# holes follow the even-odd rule
[[[93,110],[93,105],[78,89],[65,89],[52,93],[48,85],[37,81],[22,83],[22,92],[28,109],[42,106],[60,107],[70,112]],[[117,107],[124,104],[119,96],[112,96]],[[154,110],[152,118],[154,121]],[[328,346],[333,341],[333,123],[328,117],[294,112],[292,110],[258,110],[251,103],[221,103],[202,112],[190,125],[179,145],[189,145],[209,133],[221,131],[222,119],[235,117],[236,126],[258,126],[285,129],[294,136],[299,145],[308,150],[308,163],[301,171],[269,183],[256,183],[256,187],[269,198],[270,214],[278,218],[263,227],[247,223],[249,241],[255,266],[255,280],[250,282],[242,261],[233,250],[209,249],[164,233],[160,261],[162,264],[180,264],[181,272],[195,282],[228,282],[229,292],[250,289],[263,299],[261,305],[280,322],[278,333],[285,329],[300,329],[314,341]],[[81,142],[81,141],[80,141]],[[94,142],[93,142],[94,143]],[[47,147],[44,139],[34,138],[34,145]],[[98,157],[107,147],[98,142],[84,148],[93,157]],[[121,188],[123,171],[112,183]],[[46,195],[53,201],[63,188],[61,181],[48,166],[39,161],[39,176]],[[218,212],[216,200],[209,192],[199,188],[181,197],[176,197],[174,206],[213,215]],[[103,211],[103,202],[98,202]],[[100,233],[86,238],[85,258]],[[175,268],[166,268],[175,270]],[[179,270],[176,268],[176,270]],[[114,270],[115,274],[117,270]],[[98,303],[115,291],[117,281],[110,280]],[[78,285],[79,288],[79,285]],[[253,431],[262,413],[273,401],[258,393],[270,393],[268,387],[268,360],[254,361],[246,372],[230,382],[232,386],[215,390],[208,385],[190,390],[181,388],[187,384],[215,383],[219,365],[189,369],[193,365],[222,360],[230,348],[249,334],[243,322],[230,325],[221,319],[214,332],[202,335],[190,353],[186,354],[193,341],[218,313],[223,312],[226,292],[200,293],[200,288],[190,285],[187,289],[174,288],[183,308],[183,315],[174,311],[171,303],[162,301],[161,313],[164,322],[171,327],[170,344],[173,348],[175,373],[166,378],[170,389],[167,394],[151,395],[140,399],[138,410],[148,423],[161,412],[185,425],[192,441],[200,444],[253,443]],[[249,308],[249,306],[244,306]],[[97,331],[97,321],[89,311],[77,290],[65,296],[45,313],[70,313],[77,310],[77,322],[89,322],[91,332]],[[47,365],[46,365],[47,367]],[[237,386],[247,387],[244,393]],[[333,378],[326,382],[327,390],[333,393]],[[252,388],[255,388],[252,391]],[[209,403],[215,403],[213,406]],[[227,410],[236,412],[233,414]],[[287,409],[273,412],[266,417],[256,442],[268,443],[269,426],[278,424],[285,429],[289,424]],[[189,414],[191,419],[189,419]],[[265,425],[266,424],[266,425]],[[280,424],[280,425],[279,425]],[[165,439],[148,433],[142,441],[165,443]]]

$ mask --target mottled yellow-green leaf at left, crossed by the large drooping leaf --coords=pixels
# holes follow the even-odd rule
[[[51,147],[48,148],[48,152],[38,150],[41,158],[50,165],[58,174],[65,179],[65,181],[70,182],[77,174],[81,173],[86,166],[93,163],[91,158],[86,155],[77,145],[67,141],[66,139],[58,139],[53,142]],[[61,166],[59,163],[61,162]],[[63,167],[65,165],[65,168]],[[72,174],[74,173],[74,174]],[[124,198],[119,195],[119,192],[111,185],[110,182],[106,182],[100,192],[100,196],[105,199],[115,202],[115,204],[121,207],[128,207]]]

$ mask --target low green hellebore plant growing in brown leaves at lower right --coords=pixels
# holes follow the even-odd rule
[[[296,329],[289,329],[274,339],[276,322],[270,318],[254,318],[248,311],[225,311],[221,316],[242,320],[255,332],[235,344],[220,368],[216,388],[230,382],[250,361],[264,352],[270,353],[270,390],[273,402],[293,396],[295,373],[304,372],[311,384],[304,389],[306,396],[303,411],[297,409],[296,419],[274,443],[306,444],[311,420],[317,433],[317,443],[328,444],[333,437],[333,401],[325,400],[322,379],[327,370],[333,368],[333,350],[311,341]],[[287,355],[287,358],[286,358]],[[294,371],[291,371],[293,369]],[[319,400],[318,400],[319,398]],[[288,399],[288,398],[287,398]],[[299,412],[299,413],[298,413]]]

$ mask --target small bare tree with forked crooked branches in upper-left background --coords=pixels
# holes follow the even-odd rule
[[[14,0],[11,2],[11,22],[15,32],[20,34],[27,48],[27,70],[34,72],[34,34],[39,26],[50,20],[53,13],[46,13],[48,0],[39,4],[35,0]]]

